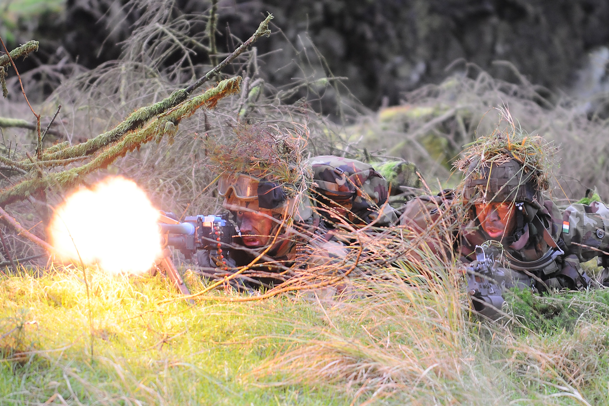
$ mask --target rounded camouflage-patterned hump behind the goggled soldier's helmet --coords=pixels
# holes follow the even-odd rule
[[[313,171],[313,189],[348,210],[353,223],[370,223],[379,217],[387,202],[387,180],[370,165],[340,156],[315,156],[309,159]],[[397,220],[391,209],[382,212],[379,225]]]

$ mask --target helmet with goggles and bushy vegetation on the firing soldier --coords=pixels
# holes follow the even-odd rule
[[[283,220],[305,221],[312,215],[307,190],[311,171],[304,157],[306,136],[268,124],[232,128],[224,142],[206,141],[211,167],[217,173],[222,206],[238,211],[257,200],[259,208]]]

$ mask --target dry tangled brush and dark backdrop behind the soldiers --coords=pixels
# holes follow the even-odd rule
[[[211,0],[0,4],[0,36],[9,48],[40,41],[19,70],[43,117],[57,103],[71,106],[60,124],[72,143],[192,83],[216,56],[206,31]],[[605,1],[218,0],[217,6],[217,58],[245,40],[266,12],[275,16],[273,35],[225,70],[244,75],[241,97],[228,110],[221,105],[181,125],[186,136],[178,140],[200,140],[208,130],[224,134],[229,121],[306,123],[313,154],[408,159],[431,187],[443,187],[458,181],[452,162],[463,145],[496,127],[500,114],[493,108],[507,107],[524,130],[560,147],[555,197],[577,200],[597,187],[609,200]],[[16,85],[14,76],[10,83]],[[16,103],[18,88],[10,93],[0,115],[27,119]],[[7,140],[12,135],[27,144],[18,131],[5,131]],[[157,171],[164,162],[163,173],[183,166],[176,181],[186,172],[199,179],[205,159],[198,142],[177,143],[192,152],[188,166],[181,165],[186,155],[167,153],[137,168]],[[171,184],[152,173],[146,181]]]

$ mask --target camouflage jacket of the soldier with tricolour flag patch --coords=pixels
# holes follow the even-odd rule
[[[453,214],[452,221],[457,221],[454,206],[451,208],[453,200],[444,198],[440,205],[438,201],[437,197],[418,197],[410,201],[401,224],[421,233],[426,223],[437,220],[438,209],[444,209],[448,217]],[[451,232],[454,236],[452,242],[432,242],[432,249],[452,247],[463,262],[476,259],[476,245],[488,244],[491,239],[471,211],[469,217],[468,222]],[[417,220],[416,223],[413,219]],[[533,278],[528,280],[529,285],[542,292],[547,289],[586,287],[591,280],[580,263],[600,256],[605,264],[605,258],[609,256],[609,237],[605,237],[607,229],[609,209],[602,203],[576,203],[560,209],[552,200],[545,198],[533,220],[524,225],[522,236],[502,243],[502,266],[521,275],[532,275]]]

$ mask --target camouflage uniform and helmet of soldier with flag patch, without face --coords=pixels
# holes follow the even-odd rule
[[[460,226],[453,242],[432,242],[432,250],[451,247],[465,263],[476,261],[476,246],[486,245],[485,251],[494,254],[499,266],[502,289],[529,288],[535,292],[558,289],[583,289],[593,285],[582,269],[580,262],[601,256],[606,264],[609,237],[609,209],[603,203],[593,201],[590,205],[573,204],[560,209],[552,200],[544,197],[521,164],[510,159],[501,164],[483,166],[482,173],[474,174],[470,166],[463,189],[463,205],[466,219]],[[454,195],[446,198],[419,197],[407,204],[401,224],[423,231],[437,220],[442,211],[456,214]],[[481,201],[514,203],[516,227],[511,236],[501,242],[491,242],[477,219],[474,205]],[[438,248],[439,247],[439,248]],[[479,303],[502,303],[482,297]],[[501,293],[496,292],[501,295]],[[474,307],[476,303],[474,302]],[[482,307],[481,307],[482,308]],[[476,310],[481,310],[476,307]]]

